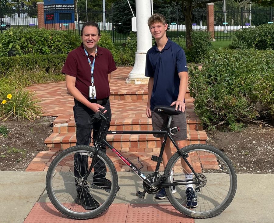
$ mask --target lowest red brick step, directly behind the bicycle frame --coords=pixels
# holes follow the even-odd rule
[[[206,143],[205,131],[188,130],[188,145],[195,143]],[[160,138],[149,135],[107,135],[107,141],[114,148],[155,148],[160,147]],[[76,133],[52,133],[45,140],[48,147],[67,149],[76,145]]]

